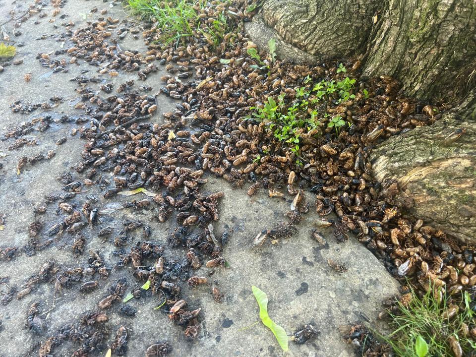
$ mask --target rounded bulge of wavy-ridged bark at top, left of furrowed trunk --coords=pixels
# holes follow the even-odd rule
[[[321,58],[366,48],[381,0],[268,0],[263,19],[287,42]]]

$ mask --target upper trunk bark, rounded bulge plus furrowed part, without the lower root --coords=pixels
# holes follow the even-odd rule
[[[474,0],[267,0],[262,18],[311,55],[361,55],[364,76],[393,76],[418,98],[463,93],[476,68]]]

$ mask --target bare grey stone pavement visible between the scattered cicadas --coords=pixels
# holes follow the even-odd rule
[[[18,0],[14,4],[0,0],[0,7],[7,10],[1,11],[0,22],[6,19],[10,9],[16,6],[19,11],[23,11],[27,4],[28,1],[24,0]],[[33,17],[22,24],[20,30],[23,34],[15,40],[25,45],[18,49],[16,56],[16,59],[24,60],[23,64],[9,66],[0,73],[1,133],[22,121],[47,114],[41,110],[25,116],[11,113],[8,105],[18,99],[23,102],[40,102],[59,95],[64,97],[64,103],[53,112],[71,116],[81,114],[72,107],[77,102],[74,91],[77,84],[70,79],[79,75],[81,70],[89,70],[86,75],[95,76],[97,67],[79,61],[79,65],[68,65],[69,73],[53,73],[52,69],[41,67],[35,57],[40,52],[50,53],[60,49],[61,42],[57,42],[57,39],[64,31],[61,23],[71,20],[75,23],[74,28],[80,28],[86,21],[97,19],[99,13],[90,14],[93,7],[98,7],[99,10],[106,8],[106,16],[125,17],[119,3],[110,7],[109,3],[97,0],[68,1],[59,14],[66,14],[67,17],[56,17],[58,29],[53,27],[54,23],[49,22],[52,18],[50,4],[45,9],[48,13],[46,18]],[[40,24],[34,25],[35,20],[39,20]],[[6,29],[11,31],[12,23],[7,24]],[[47,38],[35,40],[42,34],[47,34]],[[10,36],[13,37],[11,34]],[[64,47],[67,48],[68,45],[66,42]],[[120,46],[123,50],[145,50],[142,40],[134,40],[131,36],[120,42]],[[66,55],[63,58],[68,59]],[[23,76],[29,72],[32,73],[32,79],[27,83]],[[145,83],[138,81],[135,73],[121,73],[114,78],[102,77],[113,82],[115,89],[119,83],[133,78],[137,85],[152,86],[151,93],[155,93],[161,85],[161,74],[149,76]],[[158,97],[158,101],[158,113],[167,112],[175,105],[162,96]],[[163,119],[156,115],[151,120],[162,122]],[[0,231],[0,247],[23,245],[28,241],[27,226],[35,219],[32,209],[44,202],[46,194],[60,192],[61,184],[55,177],[70,171],[70,167],[79,162],[84,141],[69,135],[71,127],[69,124],[58,124],[45,132],[33,132],[27,138],[36,138],[37,145],[24,146],[20,150],[7,150],[12,139],[0,142],[0,152],[8,155],[0,158],[3,164],[3,169],[0,170],[0,213],[6,214],[5,228]],[[55,145],[64,136],[67,141],[61,146]],[[15,166],[19,157],[37,152],[46,154],[51,149],[57,151],[52,160],[39,162],[34,166],[27,165],[20,176],[16,175]],[[301,346],[290,343],[291,356],[351,356],[352,349],[342,340],[339,325],[356,322],[364,317],[373,323],[380,310],[380,301],[396,294],[398,283],[355,238],[345,244],[337,244],[332,231],[323,230],[323,235],[329,241],[329,248],[319,249],[309,235],[310,224],[315,219],[312,210],[299,225],[296,237],[274,245],[267,241],[259,250],[254,251],[251,247],[253,238],[261,230],[271,228],[277,221],[285,219],[283,214],[289,209],[291,197],[286,200],[271,199],[264,190],[248,197],[246,189],[234,190],[224,180],[213,177],[209,179],[207,190],[225,192],[220,206],[221,218],[215,223],[215,231],[221,234],[226,225],[233,229],[233,235],[224,251],[231,267],[217,269],[210,278],[225,294],[223,303],[213,300],[211,284],[193,290],[184,287],[184,297],[190,306],[200,306],[203,311],[202,330],[199,339],[193,343],[185,341],[182,330],[169,320],[167,314],[153,310],[159,303],[159,297],[129,301],[128,304],[139,309],[135,318],[120,316],[118,310],[122,304],[117,303],[107,310],[110,320],[106,326],[111,331],[107,343],[111,344],[115,331],[123,324],[132,330],[127,356],[144,356],[145,349],[157,341],[168,341],[172,345],[170,356],[282,356],[273,335],[262,324],[240,330],[258,319],[258,306],[251,293],[251,285],[256,285],[268,294],[269,314],[284,327],[288,335],[309,322],[315,323],[321,332],[312,343]],[[99,192],[94,187],[88,192],[97,193]],[[309,199],[313,202],[312,197]],[[101,200],[99,205],[105,202]],[[41,216],[41,219],[46,222],[54,220],[55,209],[54,205],[50,205],[48,215]],[[147,210],[123,210],[105,217],[99,227],[83,231],[87,237],[86,252],[89,249],[99,250],[112,266],[118,261],[113,255],[116,247],[111,241],[101,242],[97,238],[97,231],[107,225],[117,230],[121,220],[126,218],[147,221],[151,216],[152,212]],[[151,240],[167,244],[167,236],[175,228],[174,222],[158,224],[153,221],[150,225]],[[37,273],[47,260],[53,260],[61,267],[86,265],[87,253],[74,257],[70,249],[71,237],[68,239],[61,238],[57,244],[32,257],[23,254],[10,262],[0,261],[0,277],[9,277],[8,285],[0,285],[0,292],[5,292],[9,286],[20,286],[32,274]],[[166,255],[182,258],[184,251],[167,248]],[[346,263],[349,271],[343,274],[334,272],[327,265],[328,258]],[[205,275],[207,272],[208,269],[201,268],[198,273]],[[65,289],[62,296],[55,297],[54,284],[40,284],[27,297],[21,300],[14,298],[0,309],[3,327],[0,332],[0,356],[38,356],[38,346],[42,341],[62,324],[76,319],[86,310],[95,309],[97,302],[106,296],[107,288],[122,276],[127,277],[129,287],[135,284],[128,269],[113,269],[110,278],[101,280],[99,289],[89,294],[78,293],[77,286],[74,286],[72,289]],[[31,334],[25,328],[26,310],[34,301],[41,303],[40,311],[45,313],[42,317],[46,321],[46,330],[40,336]],[[50,311],[47,312],[48,310]],[[54,350],[54,355],[69,356],[74,349],[72,344],[65,343]],[[105,351],[102,351],[98,356],[104,354]]]

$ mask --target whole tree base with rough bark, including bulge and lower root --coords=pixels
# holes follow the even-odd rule
[[[474,0],[266,0],[248,32],[261,47],[275,37],[278,56],[357,57],[363,77],[390,75],[410,96],[452,103],[432,125],[380,144],[371,160],[376,179],[397,179],[413,198],[410,215],[476,244]]]

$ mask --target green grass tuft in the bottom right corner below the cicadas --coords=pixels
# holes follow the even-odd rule
[[[463,356],[473,356],[471,352],[476,350],[476,342],[469,329],[474,328],[476,323],[475,302],[472,302],[468,292],[464,293],[459,304],[453,305],[455,301],[450,303],[448,297],[438,302],[434,289],[422,298],[412,290],[409,293],[412,297],[410,302],[399,302],[397,311],[390,313],[393,332],[381,337],[392,347],[395,356],[418,356],[419,337],[427,344],[426,356],[458,356],[455,349],[459,347]],[[456,308],[458,312],[447,318],[448,314],[451,315],[449,312]]]

